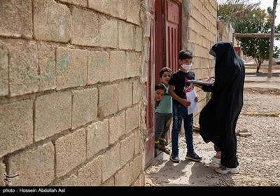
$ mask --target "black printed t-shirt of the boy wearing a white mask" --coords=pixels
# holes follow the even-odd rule
[[[187,99],[186,92],[190,92],[190,90],[193,89],[193,85],[188,83],[188,80],[194,80],[195,79],[195,72],[188,71],[188,73],[185,73],[183,71],[176,71],[172,74],[168,84],[174,85],[174,92],[182,99]],[[175,99],[173,99],[174,104],[181,104],[180,102],[177,102]]]

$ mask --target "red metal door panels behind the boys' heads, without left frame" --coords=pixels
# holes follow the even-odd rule
[[[160,82],[160,69],[179,69],[181,50],[181,1],[155,0],[155,83]]]

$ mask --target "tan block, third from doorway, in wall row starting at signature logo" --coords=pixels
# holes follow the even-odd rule
[[[109,146],[109,120],[87,126],[87,159]]]

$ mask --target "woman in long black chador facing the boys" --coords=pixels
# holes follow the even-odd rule
[[[221,149],[220,174],[239,173],[235,127],[243,106],[245,67],[232,43],[217,42],[210,55],[216,58],[213,85],[195,85],[204,92],[213,92],[200,112],[200,135]]]

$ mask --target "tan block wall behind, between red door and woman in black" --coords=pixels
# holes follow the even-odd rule
[[[182,48],[193,52],[195,79],[214,75],[214,60],[209,55],[211,46],[217,41],[217,1],[184,0],[182,8]],[[207,93],[195,88],[199,97],[199,110],[194,123],[198,124],[199,113],[207,103]]]

